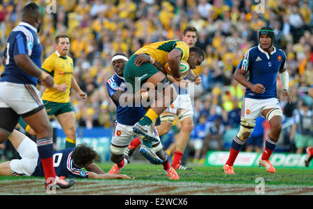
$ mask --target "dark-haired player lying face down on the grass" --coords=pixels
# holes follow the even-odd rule
[[[39,159],[37,144],[16,130],[8,139],[22,159],[0,163],[0,176],[45,176]],[[85,143],[78,144],[75,148],[54,151],[56,175],[67,178],[130,178],[124,174],[114,176],[106,174],[98,165],[93,163],[96,157],[96,151]],[[83,168],[87,172],[83,171]]]

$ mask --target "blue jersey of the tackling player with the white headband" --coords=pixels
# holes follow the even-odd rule
[[[132,106],[121,106],[119,101],[115,101],[113,99],[113,94],[118,91],[127,91],[127,84],[124,78],[114,74],[108,81],[106,81],[106,88],[109,92],[109,96],[113,100],[116,106],[116,119],[118,123],[134,126],[136,122],[138,122],[145,115],[145,108],[143,106],[140,107],[132,107]]]

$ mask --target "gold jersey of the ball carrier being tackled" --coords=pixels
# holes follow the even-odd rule
[[[136,51],[134,54],[147,53],[152,58],[154,58],[154,60],[164,66],[166,62],[168,62],[168,53],[170,53],[172,49],[179,49],[180,51],[182,51],[181,60],[187,62],[189,57],[189,47],[185,42],[179,40],[154,42],[152,44],[143,46],[141,49],[138,49],[138,51]]]

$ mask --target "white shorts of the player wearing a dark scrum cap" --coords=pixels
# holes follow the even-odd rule
[[[277,98],[251,99],[243,97],[241,104],[241,118],[257,119],[257,117],[262,116],[263,110],[272,108],[281,109],[280,102]]]

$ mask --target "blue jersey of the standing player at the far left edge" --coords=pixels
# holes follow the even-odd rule
[[[17,67],[14,56],[27,54],[31,60],[41,68],[42,65],[42,46],[37,36],[37,29],[26,22],[20,22],[10,33],[6,49],[4,50],[6,66],[1,74],[1,81],[10,83],[22,83],[37,85],[38,78],[26,74]]]

